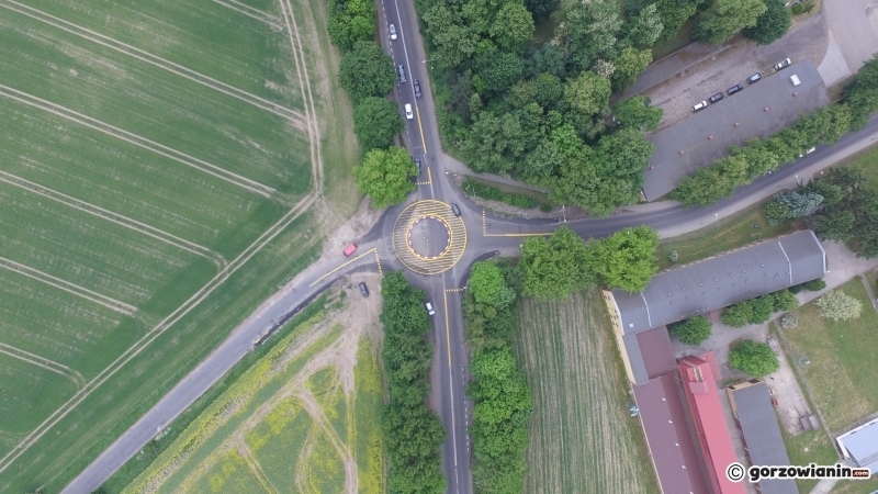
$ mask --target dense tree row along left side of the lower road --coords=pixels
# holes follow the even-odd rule
[[[402,271],[387,273],[381,292],[381,357],[390,389],[381,420],[391,461],[387,490],[393,494],[441,494],[448,489],[439,451],[446,434],[436,412],[425,404],[432,361],[427,340],[430,321],[423,305],[426,296],[408,284]]]

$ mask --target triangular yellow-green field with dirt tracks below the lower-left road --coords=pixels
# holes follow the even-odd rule
[[[291,328],[124,492],[384,492],[379,302],[345,303]]]

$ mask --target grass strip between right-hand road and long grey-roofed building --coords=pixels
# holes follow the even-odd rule
[[[804,228],[802,220],[784,222],[777,226],[769,225],[765,220],[762,204],[758,204],[686,235],[663,238],[655,255],[658,269],[664,270],[802,228]],[[671,262],[668,256],[675,250],[679,259],[677,262]]]

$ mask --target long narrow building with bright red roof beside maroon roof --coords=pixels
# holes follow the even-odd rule
[[[712,366],[711,366],[712,361]],[[689,356],[677,361],[684,396],[691,411],[695,435],[707,467],[707,476],[716,494],[745,494],[743,483],[725,476],[729,464],[738,461],[732,437],[720,404],[716,357],[709,351],[700,357]]]

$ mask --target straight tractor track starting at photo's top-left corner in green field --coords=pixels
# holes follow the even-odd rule
[[[185,79],[189,79],[193,82],[196,82],[201,86],[213,89],[215,91],[222,92],[232,98],[236,98],[248,104],[251,104],[264,111],[271,112],[278,116],[281,116],[290,121],[295,127],[302,128],[303,115],[300,112],[291,110],[282,104],[266,100],[264,98],[258,97],[243,89],[238,89],[234,86],[227,85],[210,76],[205,76],[204,74],[198,72],[182,65],[175,64],[173,61],[161,58],[157,55],[153,55],[149,52],[137,48],[136,46],[132,46],[127,43],[123,43],[119,40],[114,40],[110,36],[105,36],[101,33],[65,21],[64,19],[56,18],[47,12],[43,12],[42,10],[37,10],[34,9],[33,7],[19,3],[15,0],[0,0],[0,7],[16,12],[21,15],[34,19],[44,24],[48,24],[53,27],[59,29],[75,36],[81,37],[83,40],[88,40],[92,43],[97,43],[101,46],[119,52],[123,55],[136,58],[140,61],[158,67],[162,70],[167,70],[171,74],[183,77]]]

